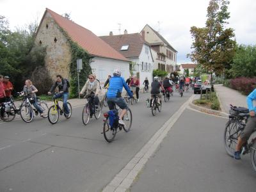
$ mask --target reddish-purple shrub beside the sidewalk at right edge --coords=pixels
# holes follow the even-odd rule
[[[248,95],[255,89],[256,77],[237,77],[230,80],[230,88],[237,90],[244,95]]]

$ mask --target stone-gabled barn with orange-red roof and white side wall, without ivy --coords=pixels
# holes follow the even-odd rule
[[[49,9],[36,31],[35,44],[46,47],[45,65],[49,69],[52,79],[56,74],[69,77],[69,64],[72,58],[68,37],[93,56],[90,66],[92,72],[100,79],[106,81],[115,68],[123,72],[125,78],[129,77],[129,60],[106,44],[92,31],[79,26]],[[79,58],[77,58],[79,59]]]

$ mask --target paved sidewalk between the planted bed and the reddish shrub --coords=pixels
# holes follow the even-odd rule
[[[236,90],[227,88],[222,84],[216,84],[214,85],[214,88],[219,95],[221,108],[223,108],[223,112],[229,113],[230,104],[232,104],[233,106],[241,106],[247,108],[245,95],[242,95],[240,92],[237,92]]]

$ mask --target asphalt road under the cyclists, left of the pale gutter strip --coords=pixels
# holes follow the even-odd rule
[[[131,106],[131,131],[119,132],[113,143],[100,134],[102,117],[83,125],[83,107],[55,125],[39,117],[0,122],[0,191],[101,191],[190,96],[175,93],[153,117],[145,106],[149,94],[141,93]]]

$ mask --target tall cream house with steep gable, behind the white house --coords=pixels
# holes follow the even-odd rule
[[[154,58],[154,69],[164,70],[168,74],[177,70],[177,51],[157,31],[148,26],[140,35],[150,44]]]

